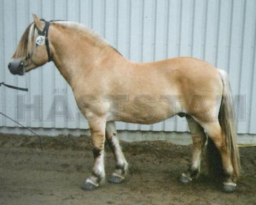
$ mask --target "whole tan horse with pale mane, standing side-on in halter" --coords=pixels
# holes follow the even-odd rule
[[[95,190],[104,182],[105,141],[115,159],[108,182],[119,184],[125,180],[128,163],[119,145],[115,121],[151,124],[176,114],[186,117],[193,141],[191,163],[180,181],[186,184],[196,179],[209,138],[208,146],[214,146],[220,154],[223,191],[236,189],[240,160],[225,71],[191,57],[132,62],[83,24],[45,21],[35,14],[33,20],[8,68],[12,74],[24,75],[53,61],[70,85],[88,120],[93,145],[94,164],[82,186],[84,190]]]

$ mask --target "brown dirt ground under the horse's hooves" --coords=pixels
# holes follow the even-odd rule
[[[187,169],[191,146],[165,142],[122,142],[129,163],[124,183],[105,183],[95,191],[80,187],[91,173],[92,146],[87,136],[39,139],[0,135],[1,205],[256,205],[256,147],[240,148],[242,175],[235,193],[202,173],[189,185],[179,176]],[[106,148],[106,174],[114,159]]]

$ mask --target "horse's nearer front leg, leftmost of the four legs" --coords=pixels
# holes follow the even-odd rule
[[[94,164],[92,168],[92,175],[86,179],[85,184],[82,186],[84,190],[94,190],[105,179],[104,168],[104,143],[105,143],[105,129],[106,120],[104,117],[99,117],[97,120],[89,122]]]

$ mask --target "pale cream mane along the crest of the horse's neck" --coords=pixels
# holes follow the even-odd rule
[[[90,41],[91,44],[99,47],[110,47],[111,49],[119,53],[119,51],[116,50],[116,48],[112,47],[98,32],[95,32],[94,30],[81,23],[71,21],[52,21],[52,23],[59,24],[61,26],[64,26],[65,28],[75,30],[76,32],[82,32],[84,35],[86,35],[86,38],[88,39],[88,41]],[[122,56],[121,53],[119,54]]]

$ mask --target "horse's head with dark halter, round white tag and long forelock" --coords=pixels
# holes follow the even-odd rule
[[[47,39],[49,24],[46,25],[46,22],[40,20],[35,14],[33,18],[34,22],[23,33],[18,47],[8,64],[12,74],[22,76],[24,72],[39,67],[51,59],[50,45]]]

